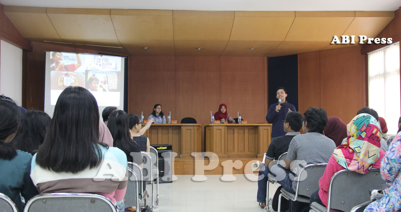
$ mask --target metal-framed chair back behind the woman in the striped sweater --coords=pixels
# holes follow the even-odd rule
[[[24,212],[96,211],[119,212],[113,202],[100,194],[43,193],[30,199]]]

